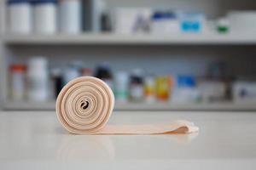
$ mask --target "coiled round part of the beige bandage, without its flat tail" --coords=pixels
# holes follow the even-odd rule
[[[56,102],[57,116],[71,133],[96,133],[108,122],[114,97],[105,82],[79,77],[62,88]]]

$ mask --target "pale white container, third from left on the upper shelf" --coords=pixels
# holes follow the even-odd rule
[[[68,34],[79,34],[82,31],[81,0],[60,1],[60,29]]]

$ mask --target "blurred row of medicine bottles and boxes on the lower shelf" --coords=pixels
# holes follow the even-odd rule
[[[145,74],[141,69],[114,71],[108,63],[95,70],[74,61],[65,69],[51,68],[44,57],[32,57],[27,65],[9,66],[9,96],[15,101],[48,101],[76,77],[101,78],[113,89],[118,102],[212,103],[256,102],[256,79],[228,78],[224,63],[209,65],[207,77]]]

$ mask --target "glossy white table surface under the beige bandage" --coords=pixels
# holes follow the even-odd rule
[[[256,169],[256,112],[114,112],[109,123],[171,122],[190,135],[73,135],[55,112],[0,112],[0,169]]]

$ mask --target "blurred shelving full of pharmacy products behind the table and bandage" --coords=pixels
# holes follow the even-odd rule
[[[253,0],[6,0],[3,110],[54,110],[75,77],[119,111],[256,111]]]

